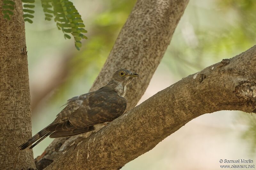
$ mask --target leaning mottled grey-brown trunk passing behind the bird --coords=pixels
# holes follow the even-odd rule
[[[132,109],[147,89],[187,4],[188,0],[138,0],[91,91],[106,85],[119,68],[136,72],[140,79],[127,87],[125,95],[128,110]],[[84,138],[55,139],[37,157],[36,167],[43,169]]]

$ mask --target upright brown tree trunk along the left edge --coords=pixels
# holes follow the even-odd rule
[[[11,20],[3,18],[0,1],[0,167],[36,169],[33,151],[17,148],[31,137],[31,109],[25,24],[21,0]]]

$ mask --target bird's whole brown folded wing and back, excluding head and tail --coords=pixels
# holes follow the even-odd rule
[[[67,106],[57,115],[54,122],[47,127],[47,130],[70,131],[111,122],[122,115],[126,106],[127,100],[118,96],[113,89],[99,89],[69,99]],[[91,128],[89,129],[91,130]]]

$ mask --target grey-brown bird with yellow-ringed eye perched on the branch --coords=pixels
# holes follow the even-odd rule
[[[32,149],[47,136],[50,138],[70,137],[98,130],[97,128],[113,121],[126,110],[128,103],[124,98],[126,86],[134,77],[139,77],[139,74],[119,69],[106,86],[72,97],[51,124],[18,148],[20,150],[27,147]]]

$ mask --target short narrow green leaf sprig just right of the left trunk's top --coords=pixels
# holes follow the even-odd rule
[[[24,21],[29,22],[30,24],[33,23],[33,21],[31,20],[32,18],[34,18],[34,14],[35,11],[32,10],[33,8],[35,8],[35,0],[22,0],[23,2],[23,18]]]

